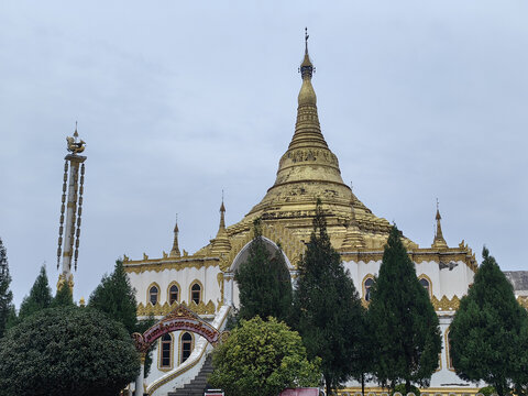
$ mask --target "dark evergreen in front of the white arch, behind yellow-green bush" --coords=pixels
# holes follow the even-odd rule
[[[272,255],[267,250],[258,220],[254,223],[254,233],[248,260],[234,275],[240,292],[238,319],[249,320],[260,316],[285,321],[292,309],[289,271],[282,251]]]

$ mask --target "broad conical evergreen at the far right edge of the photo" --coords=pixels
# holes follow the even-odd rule
[[[486,248],[473,286],[460,301],[449,338],[457,374],[484,381],[499,396],[528,391],[528,314]]]

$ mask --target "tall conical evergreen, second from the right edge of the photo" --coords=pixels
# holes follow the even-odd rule
[[[428,386],[442,350],[438,317],[420,285],[415,264],[393,226],[370,304],[376,341],[375,376],[386,386],[405,382]]]

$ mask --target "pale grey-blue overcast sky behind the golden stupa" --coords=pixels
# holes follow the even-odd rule
[[[304,29],[343,180],[420,246],[436,198],[455,246],[528,270],[528,3],[0,2],[0,237],[16,305],[55,286],[65,136],[87,142],[75,298],[123,253],[215,237],[275,180]]]

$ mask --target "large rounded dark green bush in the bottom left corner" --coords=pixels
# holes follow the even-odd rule
[[[0,341],[0,395],[116,396],[140,360],[124,327],[89,308],[50,308]]]

